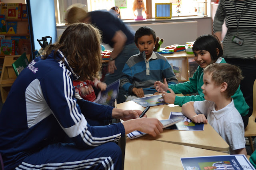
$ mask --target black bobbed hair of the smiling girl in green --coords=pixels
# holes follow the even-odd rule
[[[216,52],[217,48],[219,49],[218,54]],[[210,53],[212,60],[217,60],[220,56],[223,55],[223,50],[219,39],[216,36],[210,34],[205,34],[196,38],[192,50],[193,52],[206,50]]]

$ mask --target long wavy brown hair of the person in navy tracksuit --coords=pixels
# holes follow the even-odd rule
[[[70,24],[56,43],[46,47],[44,59],[52,50],[54,57],[60,50],[74,72],[80,76],[79,80],[94,80],[99,78],[98,72],[102,65],[100,40],[99,30],[91,24]]]

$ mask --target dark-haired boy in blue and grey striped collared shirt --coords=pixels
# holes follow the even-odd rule
[[[128,95],[141,98],[144,94],[154,94],[156,92],[154,82],[163,81],[163,78],[166,78],[168,84],[178,83],[167,59],[153,52],[156,33],[152,28],[140,27],[135,33],[134,42],[140,53],[129,58],[120,78],[120,86],[128,92]]]

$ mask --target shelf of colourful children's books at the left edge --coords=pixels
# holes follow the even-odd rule
[[[8,70],[6,72],[13,70],[12,63],[9,64],[10,66],[3,66],[6,56],[18,56],[24,52],[31,55],[30,43],[26,4],[0,2],[0,91],[2,100],[4,96],[7,96],[6,93],[16,79],[16,75],[6,80],[3,77],[4,69]],[[5,99],[2,102],[4,101]]]

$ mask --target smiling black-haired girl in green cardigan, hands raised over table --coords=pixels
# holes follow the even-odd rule
[[[176,105],[182,106],[182,104],[190,101],[202,101],[204,99],[204,94],[202,92],[203,75],[204,68],[206,66],[213,63],[226,63],[224,58],[221,58],[223,54],[222,47],[220,42],[216,36],[212,36],[210,34],[202,35],[196,39],[193,45],[194,59],[199,64],[196,72],[193,77],[189,79],[189,81],[184,83],[179,83],[176,85],[170,85],[162,82],[155,82],[154,86],[158,92],[162,92],[162,96],[164,97],[165,102],[174,103]],[[167,93],[167,90],[169,91]],[[198,92],[198,95],[192,96],[176,96],[175,94],[192,94]],[[231,96],[234,100],[234,104],[238,112],[241,114],[244,128],[246,128],[248,124],[248,108],[249,106],[246,104],[244,100],[244,96],[240,90],[240,86]]]

